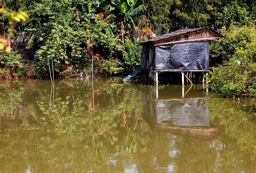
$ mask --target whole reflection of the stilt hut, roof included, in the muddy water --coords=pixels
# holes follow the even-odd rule
[[[138,88],[136,85],[133,87]],[[143,117],[156,131],[176,135],[211,139],[220,131],[210,125],[210,109],[205,106],[209,98],[198,86],[182,95],[184,86],[170,85],[165,89],[144,85],[142,91]],[[188,87],[188,86],[187,86]],[[157,90],[157,91],[156,91]],[[156,97],[156,94],[158,96]]]

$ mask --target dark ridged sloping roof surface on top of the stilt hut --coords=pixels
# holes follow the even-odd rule
[[[141,44],[155,42],[155,41],[159,41],[159,40],[164,40],[164,39],[168,39],[168,38],[172,38],[172,37],[177,37],[179,35],[184,35],[184,34],[188,34],[188,33],[192,33],[192,32],[197,32],[197,31],[201,31],[201,30],[205,30],[205,29],[212,31],[215,34],[219,35],[219,37],[221,37],[220,33],[214,31],[210,27],[192,28],[192,29],[186,28],[186,29],[181,29],[181,30],[174,31],[174,32],[171,32],[171,33],[167,33],[167,34],[164,34],[164,35],[160,35],[160,36],[152,38],[150,40],[145,40],[145,41],[141,42]]]

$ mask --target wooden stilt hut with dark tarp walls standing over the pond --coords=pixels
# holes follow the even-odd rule
[[[148,83],[156,85],[158,72],[180,72],[183,85],[184,76],[187,82],[193,84],[192,72],[209,72],[209,40],[220,37],[221,34],[205,27],[182,29],[143,41],[140,71],[144,70]],[[202,82],[204,83],[204,78]]]

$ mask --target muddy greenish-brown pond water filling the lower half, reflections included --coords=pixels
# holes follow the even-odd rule
[[[2,80],[0,173],[256,172],[251,100],[189,87]]]

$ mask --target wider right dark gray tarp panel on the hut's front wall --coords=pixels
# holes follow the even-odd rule
[[[171,45],[171,62],[175,70],[208,70],[208,41]]]

